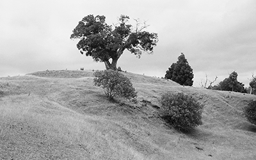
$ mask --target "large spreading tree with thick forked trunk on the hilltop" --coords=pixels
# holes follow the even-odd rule
[[[104,62],[106,69],[116,70],[116,64],[125,49],[140,58],[143,51],[152,53],[158,41],[157,33],[144,31],[145,23],[135,20],[132,28],[129,17],[121,15],[114,27],[105,22],[104,15],[87,15],[73,30],[71,39],[80,39],[77,49],[93,60]],[[111,62],[109,60],[112,60]]]

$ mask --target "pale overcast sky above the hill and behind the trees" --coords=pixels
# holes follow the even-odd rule
[[[164,77],[184,52],[194,86],[205,74],[220,82],[236,70],[245,86],[256,75],[255,0],[1,0],[0,77],[47,69],[103,70],[104,63],[80,54],[77,41],[70,40],[89,14],[105,15],[108,24],[129,15],[131,23],[147,20],[147,31],[158,33],[154,54],[138,59],[124,52],[117,65],[122,70]]]

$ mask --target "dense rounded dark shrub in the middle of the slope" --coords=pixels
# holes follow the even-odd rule
[[[164,117],[178,129],[187,131],[202,125],[203,106],[193,97],[184,93],[164,93],[160,99]]]

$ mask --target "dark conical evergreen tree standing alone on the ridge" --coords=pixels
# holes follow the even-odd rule
[[[193,77],[193,69],[190,67],[183,53],[178,57],[177,63],[172,63],[165,74],[165,79],[171,79],[184,86],[192,86]]]

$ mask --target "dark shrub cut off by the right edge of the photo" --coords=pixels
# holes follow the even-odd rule
[[[248,122],[256,125],[256,100],[244,107],[244,115]]]

